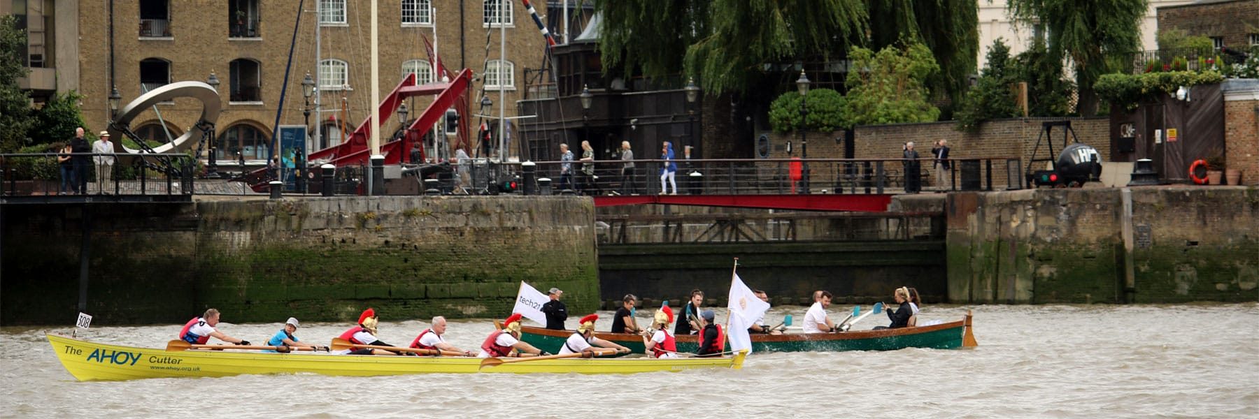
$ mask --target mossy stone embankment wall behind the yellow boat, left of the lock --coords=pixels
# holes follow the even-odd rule
[[[5,208],[5,325],[68,323],[79,206]],[[96,323],[500,317],[520,282],[598,304],[594,208],[583,198],[331,198],[93,204]]]

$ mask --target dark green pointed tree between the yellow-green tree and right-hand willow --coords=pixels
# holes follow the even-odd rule
[[[953,113],[959,130],[974,131],[985,121],[1019,116],[1019,107],[1011,91],[1011,84],[1019,81],[1010,64],[1010,47],[997,38],[988,48],[987,63],[974,88],[966,93],[966,98]]]

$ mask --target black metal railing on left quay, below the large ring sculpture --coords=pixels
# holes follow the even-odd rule
[[[64,164],[60,157],[69,157]],[[113,165],[98,165],[113,159]],[[103,167],[102,167],[103,166]],[[196,160],[185,154],[0,154],[0,196],[73,201],[88,195],[188,196]]]

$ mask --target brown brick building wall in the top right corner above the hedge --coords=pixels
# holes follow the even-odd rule
[[[1195,3],[1158,8],[1158,29],[1190,35],[1222,36],[1224,47],[1245,49],[1259,33],[1259,0]]]

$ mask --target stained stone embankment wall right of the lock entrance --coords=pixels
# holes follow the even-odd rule
[[[953,302],[1259,299],[1253,187],[951,194],[946,214]]]

